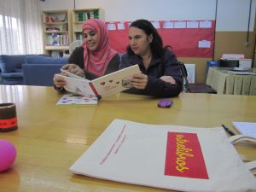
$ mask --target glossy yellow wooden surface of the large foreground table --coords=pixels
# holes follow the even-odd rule
[[[1,192],[9,191],[170,191],[84,177],[68,168],[113,119],[155,125],[216,127],[232,121],[256,122],[256,96],[182,93],[172,108],[159,98],[120,93],[98,105],[55,105],[51,87],[0,85],[0,102],[15,102],[19,129],[0,132],[17,148],[15,164],[0,173]],[[236,146],[243,160],[256,160],[255,148]]]

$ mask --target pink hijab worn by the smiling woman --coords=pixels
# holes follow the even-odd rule
[[[84,32],[84,30],[95,31],[100,38],[99,44],[94,51],[90,51],[87,49],[86,44],[83,44],[84,69],[90,73],[102,76],[108,68],[109,61],[111,61],[113,56],[118,53],[113,49],[110,49],[108,29],[102,20],[86,20],[82,26],[82,32]]]

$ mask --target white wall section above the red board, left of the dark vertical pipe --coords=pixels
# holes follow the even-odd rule
[[[102,7],[106,20],[214,19],[215,0],[76,0],[77,7]]]

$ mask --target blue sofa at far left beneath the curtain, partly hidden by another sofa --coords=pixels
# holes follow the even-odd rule
[[[26,62],[26,56],[0,55],[1,84],[23,84],[22,64]]]

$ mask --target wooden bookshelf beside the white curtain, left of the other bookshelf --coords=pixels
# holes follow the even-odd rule
[[[44,10],[42,12],[44,53],[62,56],[72,42],[72,25],[68,10]]]

